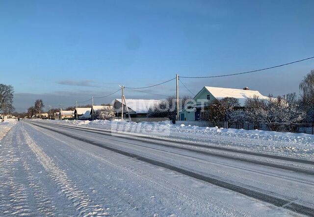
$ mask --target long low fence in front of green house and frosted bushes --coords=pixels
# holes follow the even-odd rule
[[[314,123],[264,123],[264,122],[236,122],[228,123],[228,121],[176,121],[177,125],[184,124],[185,126],[201,126],[201,127],[223,127],[246,130],[266,130],[291,133],[306,133],[314,135]]]

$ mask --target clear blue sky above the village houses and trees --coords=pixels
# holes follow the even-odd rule
[[[119,84],[243,72],[314,56],[313,0],[0,0],[0,83],[18,111],[105,96]],[[314,60],[256,74],[182,79],[203,86],[298,92]],[[152,89],[175,94],[175,82]],[[128,98],[160,98],[126,90]],[[180,94],[188,92],[180,86]],[[96,100],[96,104],[120,97]]]

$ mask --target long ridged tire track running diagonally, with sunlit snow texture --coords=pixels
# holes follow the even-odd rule
[[[52,180],[57,184],[59,190],[73,203],[80,216],[109,215],[100,204],[94,204],[86,193],[78,189],[75,183],[67,176],[66,172],[57,167],[53,160],[30,138],[24,128],[22,131],[26,139],[26,144],[34,152],[38,161],[51,176]]]

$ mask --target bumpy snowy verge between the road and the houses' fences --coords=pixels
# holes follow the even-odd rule
[[[42,121],[42,120],[38,120]],[[224,129],[174,125],[170,121],[118,122],[118,121],[53,121],[59,124],[114,130],[121,133],[143,135],[175,141],[193,141],[210,145],[227,146],[274,155],[314,159],[314,135],[280,133],[262,130]]]

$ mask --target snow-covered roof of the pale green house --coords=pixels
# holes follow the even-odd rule
[[[205,87],[212,96],[216,99],[222,99],[225,97],[234,97],[239,100],[241,106],[244,105],[244,102],[247,98],[252,98],[253,96],[259,96],[260,98],[268,98],[263,96],[258,91],[243,90],[243,89],[233,89],[233,88],[222,88],[222,87]]]

